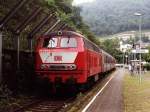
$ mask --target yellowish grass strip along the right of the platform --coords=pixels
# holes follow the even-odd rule
[[[139,83],[137,76],[128,73],[124,78],[124,112],[150,112],[150,72],[142,75]]]

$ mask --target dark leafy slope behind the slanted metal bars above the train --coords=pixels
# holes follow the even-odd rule
[[[60,22],[51,29],[51,32],[57,30],[78,31],[99,45],[99,41],[95,38],[95,35],[93,35],[89,27],[82,21],[79,14],[80,10],[71,5],[72,0],[23,0],[23,2],[25,3],[18,0],[0,0],[0,26],[3,27],[3,34],[7,37],[3,39],[3,48],[15,48],[16,44],[12,43],[11,37],[17,34],[20,38],[20,49],[28,49],[28,39],[30,37],[43,35],[49,28],[55,25],[58,20],[60,20]],[[22,6],[19,6],[19,10],[10,17],[7,23],[5,22],[5,24],[3,24],[4,20],[7,20],[5,19],[6,15],[10,14],[20,3],[22,3]],[[31,17],[33,13],[35,15],[30,20],[29,17]],[[48,16],[51,14],[53,14],[52,17]],[[29,19],[29,22],[26,19]],[[47,22],[34,32],[44,20]],[[27,23],[25,24],[26,21]],[[68,29],[65,29],[67,27]],[[35,41],[33,41],[33,43],[35,43]]]

